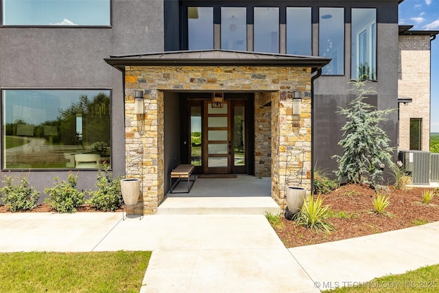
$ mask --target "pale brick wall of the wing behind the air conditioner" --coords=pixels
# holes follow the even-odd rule
[[[430,143],[430,38],[399,36],[398,97],[412,103],[399,104],[399,150],[410,150],[410,118],[421,118],[422,150]]]

